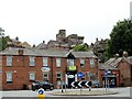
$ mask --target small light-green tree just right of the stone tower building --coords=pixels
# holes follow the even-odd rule
[[[77,44],[73,48],[75,52],[87,52],[88,51],[88,44]]]

